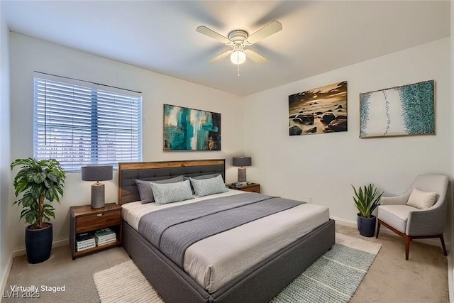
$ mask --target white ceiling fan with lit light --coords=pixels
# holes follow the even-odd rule
[[[223,58],[230,55],[231,62],[235,65],[243,64],[246,60],[246,57],[260,64],[267,62],[267,57],[264,57],[253,50],[249,50],[247,48],[245,49],[245,47],[258,43],[260,40],[265,39],[273,33],[277,33],[281,30],[282,24],[278,21],[272,21],[266,26],[260,28],[260,30],[256,31],[252,35],[249,35],[247,31],[235,30],[228,33],[228,38],[226,38],[220,33],[216,33],[206,26],[199,26],[196,28],[196,31],[198,31],[199,33],[203,33],[204,35],[218,40],[225,45],[231,46],[232,48],[231,50],[228,50],[225,53],[214,57],[209,61],[209,63],[218,62],[219,60],[222,60]]]

